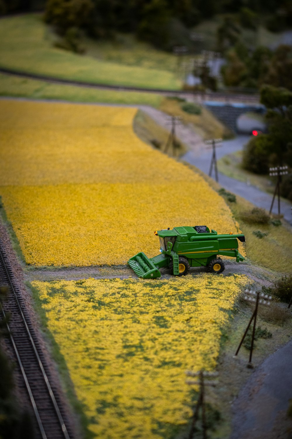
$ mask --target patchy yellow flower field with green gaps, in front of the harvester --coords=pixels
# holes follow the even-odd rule
[[[185,370],[213,370],[244,275],[32,284],[96,438],[170,439],[191,416]]]

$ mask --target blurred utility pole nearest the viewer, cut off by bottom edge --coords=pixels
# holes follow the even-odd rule
[[[215,378],[218,376],[218,372],[193,372],[186,371],[186,376],[188,377],[196,377],[196,380],[186,380],[186,384],[188,385],[198,385],[200,386],[199,390],[199,398],[197,400],[196,409],[193,412],[193,420],[190,427],[189,439],[193,439],[194,430],[196,427],[196,423],[199,417],[199,410],[202,410],[202,430],[203,430],[203,439],[207,439],[207,425],[206,425],[206,407],[205,407],[205,386],[215,387],[218,384],[218,381],[205,380],[205,378]]]

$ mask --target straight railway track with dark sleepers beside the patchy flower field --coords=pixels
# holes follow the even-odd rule
[[[1,318],[11,313],[7,324],[10,334],[8,349],[13,352],[22,385],[28,394],[35,414],[37,439],[73,439],[64,419],[63,407],[58,389],[50,385],[49,371],[35,331],[19,290],[13,282],[13,275],[4,249],[0,244],[0,286],[7,286],[8,292],[0,303]],[[52,389],[53,388],[53,389]]]

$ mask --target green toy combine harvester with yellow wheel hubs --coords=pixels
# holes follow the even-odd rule
[[[128,260],[139,277],[160,277],[162,267],[169,267],[175,276],[187,274],[190,267],[207,266],[211,273],[222,273],[224,263],[218,255],[232,256],[236,262],[244,257],[238,252],[238,241],[244,242],[243,234],[218,235],[207,226],[174,227],[154,232],[159,237],[160,254],[149,259],[140,252]]]

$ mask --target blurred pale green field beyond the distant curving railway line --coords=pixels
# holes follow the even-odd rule
[[[2,18],[0,40],[0,67],[14,71],[110,85],[180,87],[174,73],[163,69],[102,61],[53,47],[50,29],[39,14]]]

